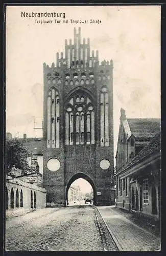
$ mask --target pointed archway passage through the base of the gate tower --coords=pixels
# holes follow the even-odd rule
[[[65,190],[66,206],[96,204],[96,187],[92,179],[83,174],[74,175]]]

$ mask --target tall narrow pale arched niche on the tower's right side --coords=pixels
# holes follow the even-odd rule
[[[106,86],[100,92],[100,145],[109,146],[109,97]]]

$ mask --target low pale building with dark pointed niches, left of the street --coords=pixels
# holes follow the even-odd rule
[[[15,178],[6,176],[6,218],[45,208],[46,190],[40,176],[35,172]]]

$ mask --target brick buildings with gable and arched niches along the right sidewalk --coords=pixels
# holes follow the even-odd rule
[[[160,119],[126,119],[125,111],[121,109],[120,120],[116,152],[116,206],[159,218]]]

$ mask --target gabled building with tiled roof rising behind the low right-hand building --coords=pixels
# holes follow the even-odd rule
[[[116,150],[116,172],[138,154],[160,131],[159,118],[126,118],[121,109]]]

